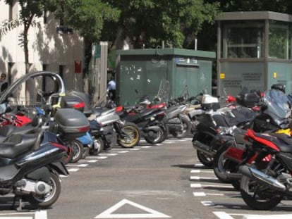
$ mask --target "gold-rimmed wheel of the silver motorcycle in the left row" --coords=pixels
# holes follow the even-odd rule
[[[140,142],[141,133],[134,123],[126,123],[121,128],[121,136],[118,136],[118,144],[123,148],[133,148]]]

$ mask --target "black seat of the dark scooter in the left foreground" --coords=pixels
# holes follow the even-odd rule
[[[1,158],[16,158],[20,154],[34,148],[39,138],[39,133],[35,134],[11,134],[4,142],[0,143]]]

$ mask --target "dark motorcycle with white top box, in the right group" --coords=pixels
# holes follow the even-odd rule
[[[250,127],[257,112],[244,106],[233,106],[233,104],[220,107],[219,99],[209,94],[202,96],[202,110],[204,113],[197,116],[199,123],[192,142],[200,162],[207,167],[212,167],[214,156],[221,147],[221,140],[217,135],[218,127],[234,125],[241,128]]]

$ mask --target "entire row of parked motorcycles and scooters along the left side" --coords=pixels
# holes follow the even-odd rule
[[[54,91],[37,89],[33,116],[19,106],[19,87],[38,77],[50,78]],[[167,82],[166,82],[167,84]],[[95,106],[87,94],[66,91],[56,73],[40,71],[20,77],[0,97],[0,194],[14,194],[18,210],[28,201],[36,208],[49,208],[61,193],[60,175],[68,175],[67,163],[88,154],[98,155],[116,144],[136,146],[143,137],[150,144],[171,134],[182,138],[193,130],[190,100],[164,101],[162,83],[153,101],[144,96],[135,106],[116,106],[106,99]]]

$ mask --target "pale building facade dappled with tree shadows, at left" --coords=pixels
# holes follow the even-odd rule
[[[17,1],[12,5],[0,1],[0,25],[6,20],[19,18],[20,6]],[[54,15],[44,13],[35,18],[38,25],[31,26],[28,33],[28,51],[30,72],[49,70],[59,73],[64,80],[66,89],[83,91],[83,37],[75,30],[60,25]],[[19,37],[23,25],[8,30],[0,37],[0,73],[8,75],[12,83],[25,74],[25,54],[19,45]],[[46,82],[39,85],[45,88]]]

